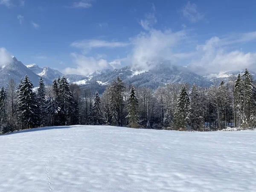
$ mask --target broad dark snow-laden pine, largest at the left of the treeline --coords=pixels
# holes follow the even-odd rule
[[[25,128],[32,128],[38,124],[38,105],[33,88],[33,84],[26,75],[19,85],[17,96],[17,116]]]

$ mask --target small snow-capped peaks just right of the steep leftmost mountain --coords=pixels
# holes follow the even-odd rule
[[[58,70],[51,69],[50,67],[47,67],[47,66],[40,68],[38,67],[37,64],[30,64],[30,65],[26,65],[26,67],[32,70],[37,75],[44,77],[46,79],[49,79],[50,81],[58,78],[59,76],[63,76],[63,74]]]

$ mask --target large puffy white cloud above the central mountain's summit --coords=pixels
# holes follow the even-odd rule
[[[174,54],[173,48],[186,39],[186,32],[171,30],[155,30],[143,32],[131,39],[133,49],[128,58],[134,67],[146,69],[159,64],[163,60],[176,62],[181,55]]]

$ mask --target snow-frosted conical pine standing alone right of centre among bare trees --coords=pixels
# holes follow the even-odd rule
[[[180,88],[180,93],[178,96],[176,110],[175,110],[175,123],[178,130],[184,130],[188,125],[189,105],[190,105],[189,94],[186,90],[186,87],[182,86]]]

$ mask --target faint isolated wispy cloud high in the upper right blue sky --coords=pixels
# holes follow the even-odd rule
[[[190,22],[195,23],[204,19],[204,15],[198,12],[197,5],[190,1],[182,9],[183,16]]]

